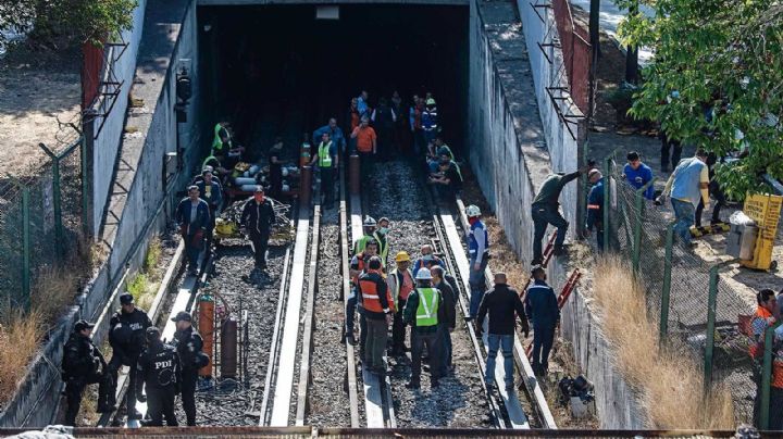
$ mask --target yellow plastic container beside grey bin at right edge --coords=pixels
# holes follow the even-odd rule
[[[770,269],[778,266],[778,262],[772,261],[772,248],[778,234],[781,204],[783,204],[781,196],[757,193],[745,198],[743,212],[756,222],[759,234],[756,238],[753,261],[739,262],[744,266],[754,269]]]

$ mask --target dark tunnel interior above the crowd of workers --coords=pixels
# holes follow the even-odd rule
[[[199,9],[204,131],[219,120],[256,159],[276,136],[286,148],[336,116],[346,130],[352,97],[434,93],[447,142],[467,133],[468,8],[393,4],[339,7],[316,20],[314,5]],[[346,134],[347,135],[347,134]]]

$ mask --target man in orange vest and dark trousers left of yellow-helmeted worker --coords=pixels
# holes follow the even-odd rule
[[[359,276],[357,287],[364,317],[362,330],[366,329],[366,335],[362,334],[364,369],[384,376],[386,365],[383,358],[386,352],[388,327],[394,319],[395,303],[381,274],[381,258],[370,258],[366,271]]]

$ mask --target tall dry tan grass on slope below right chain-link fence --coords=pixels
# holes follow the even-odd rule
[[[593,296],[616,366],[641,394],[647,427],[734,427],[728,389],[716,389],[705,401],[700,364],[676,348],[658,349],[658,327],[647,318],[644,288],[625,262],[610,256],[596,263]]]

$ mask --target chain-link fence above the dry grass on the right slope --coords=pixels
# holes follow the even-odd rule
[[[661,339],[704,364],[705,391],[729,386],[736,421],[750,422],[756,385],[745,331],[753,303],[719,276],[719,264],[705,262],[676,236],[668,205],[654,205],[646,187],[624,181],[613,158],[604,170],[610,188],[601,210],[606,246],[632,261]]]

